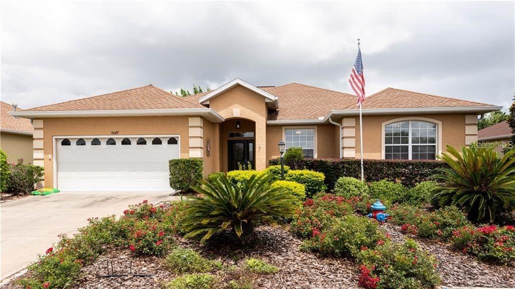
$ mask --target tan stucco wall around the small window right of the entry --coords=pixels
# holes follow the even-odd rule
[[[277,143],[283,138],[283,130],[285,127],[306,127],[306,125],[268,125],[267,131],[267,159],[276,158],[280,156]],[[339,158],[339,127],[334,124],[318,124],[307,125],[307,127],[316,127],[317,158]]]

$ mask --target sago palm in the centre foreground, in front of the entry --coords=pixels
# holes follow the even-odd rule
[[[186,238],[201,237],[201,242],[213,234],[231,229],[242,240],[256,223],[277,224],[281,217],[295,212],[295,198],[272,187],[273,176],[252,176],[242,185],[231,185],[225,175],[212,183],[201,181],[194,190],[201,194],[188,202],[184,229]]]

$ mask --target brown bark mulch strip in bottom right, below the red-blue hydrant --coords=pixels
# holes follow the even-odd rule
[[[442,285],[470,287],[512,288],[515,280],[515,265],[510,266],[480,263],[474,257],[455,251],[450,245],[405,235],[400,226],[382,226],[394,242],[402,242],[406,237],[417,240],[420,247],[438,258],[438,272]]]

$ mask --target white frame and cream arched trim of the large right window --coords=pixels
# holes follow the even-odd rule
[[[401,121],[408,121],[408,123],[409,123],[408,143],[407,144],[405,144],[405,143],[399,144],[399,145],[386,145],[386,143],[385,143],[386,125],[394,123],[394,122],[401,122]],[[408,159],[411,159],[411,148],[413,146],[422,146],[422,145],[432,146],[432,145],[434,145],[433,143],[424,143],[424,144],[420,143],[420,144],[412,145],[412,143],[411,143],[411,121],[425,121],[425,122],[431,122],[431,123],[436,124],[435,158],[436,158],[436,156],[442,154],[442,122],[441,121],[432,119],[432,118],[427,118],[427,117],[401,117],[401,118],[396,118],[396,119],[390,119],[388,121],[381,123],[381,159],[386,159],[386,157],[385,157],[386,146],[408,146]]]

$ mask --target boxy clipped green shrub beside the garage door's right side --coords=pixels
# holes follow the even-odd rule
[[[191,191],[202,179],[203,161],[198,158],[170,159],[170,187],[183,192]]]

